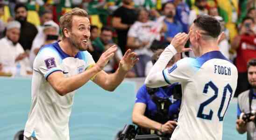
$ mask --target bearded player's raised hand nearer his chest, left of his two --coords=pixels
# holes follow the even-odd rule
[[[103,70],[107,62],[114,56],[116,50],[117,47],[115,45],[111,46],[100,56],[98,62],[95,65],[97,65],[100,68],[100,70]]]

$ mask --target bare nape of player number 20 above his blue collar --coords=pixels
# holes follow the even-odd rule
[[[199,50],[199,56],[204,55],[207,52],[210,51],[220,51],[217,42],[209,41],[209,42],[201,42]]]

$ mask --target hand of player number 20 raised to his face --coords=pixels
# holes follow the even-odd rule
[[[185,48],[185,44],[188,41],[190,34],[191,31],[189,31],[188,34],[178,33],[172,38],[171,45],[177,50],[178,53],[192,50],[191,48]]]

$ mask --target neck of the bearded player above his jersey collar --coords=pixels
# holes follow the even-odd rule
[[[66,39],[61,40],[59,43],[60,48],[69,56],[76,56],[78,53],[78,49],[75,47],[72,47],[70,42],[68,42]]]

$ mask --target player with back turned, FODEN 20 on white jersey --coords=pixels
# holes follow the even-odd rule
[[[178,33],[161,54],[145,84],[156,88],[180,82],[181,109],[171,140],[222,140],[222,127],[228,105],[237,85],[237,69],[218,47],[220,23],[208,15],[194,20],[189,34]],[[171,68],[166,64],[190,39],[196,58],[184,58]]]

